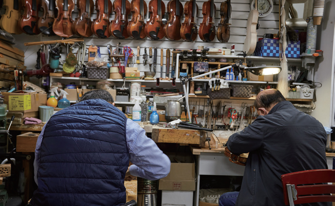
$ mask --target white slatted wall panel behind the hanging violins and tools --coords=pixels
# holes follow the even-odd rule
[[[75,0],[76,2],[77,0]],[[149,3],[149,0],[145,0],[146,3]],[[199,28],[200,23],[203,20],[203,15],[202,15],[202,5],[205,0],[197,0],[197,4],[199,7],[199,15],[197,18],[197,26]],[[220,4],[223,0],[215,0],[215,5],[217,8],[216,11],[216,18],[215,18],[215,26],[218,25],[220,22]],[[168,1],[163,0],[165,3],[165,6],[167,5]],[[181,3],[185,5],[187,0],[181,0]],[[275,3],[277,3],[275,1]],[[122,46],[125,46],[126,44],[130,46],[132,49],[136,51],[136,47],[139,45],[141,47],[141,52],[140,54],[144,54],[144,47],[158,47],[158,48],[181,48],[181,49],[190,49],[190,48],[197,48],[198,45],[203,45],[203,46],[211,46],[215,48],[230,48],[231,44],[235,44],[235,54],[239,54],[240,51],[243,49],[243,43],[245,40],[245,34],[246,34],[246,26],[247,26],[247,19],[250,11],[250,1],[249,0],[232,0],[232,25],[231,25],[231,35],[228,43],[222,44],[218,42],[218,40],[215,37],[215,40],[210,43],[205,43],[201,41],[201,39],[198,37],[195,42],[184,42],[182,40],[179,41],[169,41],[165,38],[159,41],[154,41],[150,39],[145,39],[145,40],[133,40],[131,38],[125,39],[125,40],[118,40],[118,39],[99,39],[95,36],[92,36],[90,38],[85,38],[86,45],[97,45],[100,46],[100,51],[103,55],[107,54],[107,44],[112,44],[114,47],[117,43],[121,43]],[[257,36],[262,37],[264,33],[277,33],[278,32],[278,5],[274,5],[274,8],[272,10],[271,15],[268,15],[267,17],[263,17],[259,19],[259,24],[260,24],[260,29],[257,30]],[[77,6],[75,7],[75,12],[73,13],[73,18],[77,17],[78,15],[78,10]],[[92,19],[96,17],[96,12],[94,12]],[[130,16],[129,16],[130,18]],[[114,19],[114,15],[111,16],[111,20]],[[183,21],[184,19],[182,19]],[[61,37],[53,36],[53,37],[48,37],[44,35],[35,35],[35,36],[29,36],[26,34],[20,34],[20,35],[15,35],[16,38],[16,47],[22,49],[23,51],[26,51],[25,53],[25,65],[27,66],[27,69],[34,69],[34,66],[36,64],[36,52],[39,48],[39,46],[24,46],[23,43],[25,42],[35,42],[35,41],[48,41],[48,40],[59,40]],[[74,38],[78,38],[74,36]],[[64,49],[66,51],[66,49]],[[74,51],[76,52],[76,51]],[[64,59],[66,54],[62,56],[62,59]],[[158,49],[158,57],[160,57],[160,49]],[[86,58],[87,60],[87,58]],[[160,64],[160,58],[158,58],[157,63]],[[164,64],[165,64],[165,50],[164,50]],[[144,72],[144,71],[149,71],[148,66],[143,66],[142,64],[142,56],[141,56],[141,65],[136,65],[135,67],[138,66],[139,70]],[[165,66],[163,71],[165,70]],[[160,71],[160,67],[157,68],[157,71]],[[158,74],[160,75],[160,74]]]

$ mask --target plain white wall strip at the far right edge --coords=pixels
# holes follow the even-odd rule
[[[318,26],[317,49],[323,50],[323,57],[317,58],[315,64],[314,81],[320,82],[322,87],[317,89],[316,109],[311,114],[317,118],[324,126],[332,124],[332,97],[334,78],[334,20],[335,1],[326,0],[324,7],[324,17]]]

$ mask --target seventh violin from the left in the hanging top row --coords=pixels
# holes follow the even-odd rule
[[[129,37],[127,27],[130,3],[128,0],[114,0],[113,6],[115,19],[110,25],[110,32],[115,38],[126,39]]]

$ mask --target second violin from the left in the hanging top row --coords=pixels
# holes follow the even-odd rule
[[[41,7],[41,0],[22,0],[24,14],[18,20],[20,29],[30,35],[39,34],[40,30],[37,27],[38,10]]]

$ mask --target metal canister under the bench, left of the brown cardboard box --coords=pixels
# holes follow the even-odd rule
[[[157,206],[157,180],[137,177],[137,206]]]

